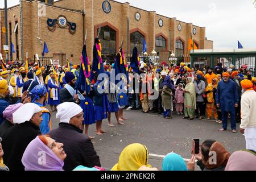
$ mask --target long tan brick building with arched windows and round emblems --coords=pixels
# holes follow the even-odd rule
[[[5,26],[3,9],[0,10],[0,19],[2,29]],[[122,39],[126,56],[132,53],[135,44],[141,53],[145,39],[147,53],[155,49],[160,60],[168,59],[169,51],[174,51],[176,55],[188,55],[191,35],[199,49],[213,48],[213,42],[205,38],[205,27],[111,0],[59,0],[54,4],[52,0],[46,0],[46,4],[23,0],[21,5],[8,9],[6,30],[9,45],[14,44],[13,60],[22,60],[22,49],[23,59],[28,52],[28,58],[34,60],[36,53],[41,55],[46,42],[49,53],[45,57],[52,57],[59,60],[60,64],[65,64],[67,57],[72,63],[79,63],[86,30],[87,52],[92,60],[94,38],[100,27],[102,57],[108,61],[114,61]],[[3,55],[4,44],[5,34],[1,31]]]

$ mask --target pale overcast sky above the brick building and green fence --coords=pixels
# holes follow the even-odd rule
[[[82,0],[81,0],[82,1]],[[103,1],[103,0],[102,0]],[[157,14],[206,27],[206,36],[214,48],[256,48],[256,8],[254,0],[116,0]],[[8,7],[19,0],[7,0]],[[4,7],[4,0],[0,0]]]

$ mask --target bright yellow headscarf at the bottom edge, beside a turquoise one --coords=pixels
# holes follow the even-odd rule
[[[137,171],[142,166],[152,167],[148,164],[147,147],[140,143],[133,143],[123,149],[118,163],[111,171]]]

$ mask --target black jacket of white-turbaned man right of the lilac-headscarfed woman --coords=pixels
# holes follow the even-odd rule
[[[56,142],[63,143],[67,158],[63,169],[71,171],[77,166],[101,167],[100,157],[94,150],[92,141],[82,134],[82,130],[68,123],[60,123],[59,128],[52,130],[49,135]]]

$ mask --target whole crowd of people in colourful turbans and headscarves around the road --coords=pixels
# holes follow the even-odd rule
[[[141,61],[142,76],[130,68],[125,88],[110,81],[113,67],[104,63],[103,87],[97,72],[92,73],[88,93],[77,86],[82,69],[79,65],[54,68],[35,63],[27,71],[19,64],[2,68],[0,170],[104,170],[88,127],[96,123],[96,134],[103,135],[103,119],[114,127],[111,113],[115,113],[118,125],[124,125],[127,118],[123,109],[152,111],[163,114],[165,119],[171,119],[174,112],[188,120],[213,117],[222,123],[219,131],[228,129],[230,118],[233,133],[236,123],[241,122],[246,150],[231,155],[216,140],[205,140],[199,154],[192,150],[187,164],[180,155],[167,154],[162,163],[164,171],[195,170],[195,163],[202,170],[256,170],[256,79],[246,65],[236,70],[234,65],[224,68],[218,63],[214,68],[199,69],[185,63],[158,65]],[[106,84],[127,93],[101,93],[98,88],[106,89]],[[51,115],[55,112],[60,124],[52,129]],[[209,161],[210,151],[217,152],[214,164]],[[157,170],[148,164],[148,158],[147,147],[133,143],[123,149],[112,170]]]

